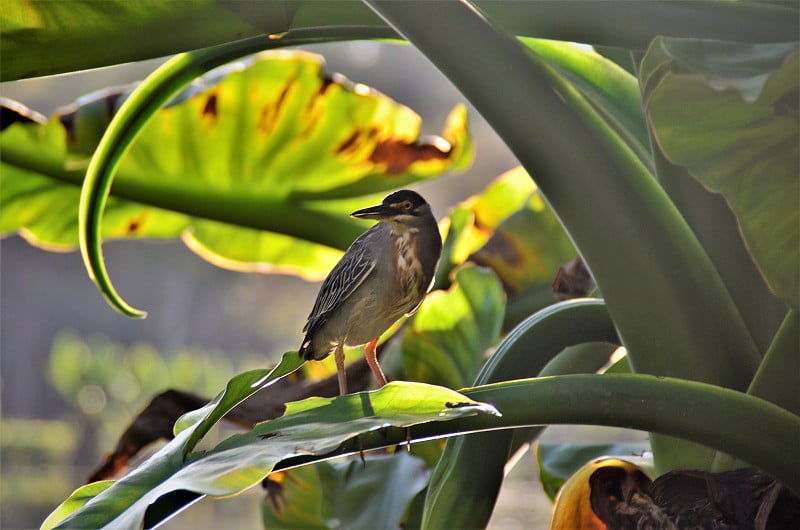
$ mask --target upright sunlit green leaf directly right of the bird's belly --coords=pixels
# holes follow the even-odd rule
[[[489,269],[468,266],[456,272],[448,291],[425,299],[403,335],[406,378],[450,388],[467,386],[497,342],[505,295]]]

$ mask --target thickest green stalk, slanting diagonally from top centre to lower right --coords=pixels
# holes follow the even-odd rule
[[[719,274],[653,175],[580,94],[467,2],[367,2],[533,175],[603,291],[633,369],[746,389],[760,354]],[[668,442],[656,465],[707,468],[711,459]]]

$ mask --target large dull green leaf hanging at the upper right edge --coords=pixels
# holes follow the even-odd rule
[[[730,204],[772,290],[800,307],[800,52],[657,39],[642,62],[654,137]]]

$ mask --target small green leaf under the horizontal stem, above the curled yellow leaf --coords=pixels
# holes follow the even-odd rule
[[[650,451],[649,444],[592,444],[592,443],[560,443],[536,444],[536,465],[539,468],[539,480],[550,500],[564,482],[589,460],[603,456],[619,456],[639,467],[651,464],[652,455],[647,458],[644,453]],[[651,470],[652,471],[652,470]]]

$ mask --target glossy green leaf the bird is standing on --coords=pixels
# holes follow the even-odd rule
[[[475,414],[497,412],[442,387],[390,383],[374,392],[289,403],[284,416],[234,435],[188,460],[183,458],[182,446],[193,429],[185,429],[79,510],[51,523],[58,528],[138,528],[148,506],[170,492],[235,495],[261,482],[282,460],[324,455],[358,434]],[[84,499],[86,492],[80,493]],[[63,506],[59,510],[66,515]]]

